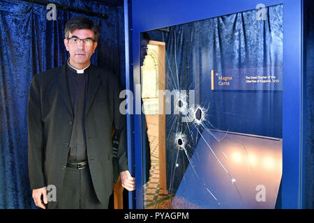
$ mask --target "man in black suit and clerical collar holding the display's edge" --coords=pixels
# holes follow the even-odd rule
[[[122,186],[135,190],[126,155],[126,118],[117,75],[91,64],[98,26],[74,17],[65,27],[67,63],[33,76],[29,91],[29,180],[40,208],[107,208],[112,194],[112,125]],[[47,199],[47,185],[57,201]],[[43,196],[43,199],[41,199]]]

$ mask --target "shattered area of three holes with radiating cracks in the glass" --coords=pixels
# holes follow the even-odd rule
[[[162,33],[162,32],[161,32]],[[162,33],[163,42],[165,42],[165,36],[164,33]],[[192,103],[190,103],[190,100],[192,98],[188,97],[188,91],[191,89],[195,90],[197,88],[200,88],[200,84],[204,82],[205,79],[209,77],[204,77],[204,79],[201,80],[197,86],[193,87],[193,84],[190,84],[190,86],[184,86],[181,87],[182,84],[180,84],[179,80],[181,75],[179,75],[179,68],[177,66],[177,35],[176,31],[174,30],[174,44],[172,47],[174,47],[174,67],[175,70],[172,70],[171,62],[169,55],[167,54],[167,50],[165,50],[165,64],[170,72],[165,72],[167,75],[167,80],[169,84],[169,89],[174,90],[174,102],[173,102],[173,114],[171,114],[171,117],[169,118],[169,121],[166,123],[167,126],[170,126],[169,132],[166,135],[166,141],[168,140],[174,140],[173,141],[173,150],[176,153],[175,162],[172,164],[172,169],[170,173],[170,183],[168,186],[168,192],[170,193],[170,196],[174,196],[175,190],[174,190],[174,180],[176,179],[176,173],[178,168],[182,165],[182,168],[186,168],[186,164],[184,163],[184,160],[188,160],[188,163],[190,167],[193,169],[193,172],[195,176],[201,180],[202,187],[206,189],[207,192],[209,192],[210,196],[218,203],[218,206],[221,206],[221,201],[218,200],[216,194],[211,191],[211,187],[202,180],[202,176],[200,176],[199,173],[197,173],[197,170],[195,169],[195,162],[200,160],[200,156],[197,154],[197,151],[195,150],[195,147],[197,145],[197,142],[199,140],[203,140],[204,143],[207,145],[208,151],[214,156],[217,164],[219,167],[221,167],[225,174],[230,178],[230,183],[234,186],[235,190],[237,190],[237,193],[239,194],[239,197],[243,200],[241,193],[239,192],[239,188],[237,187],[237,179],[235,179],[232,174],[230,174],[230,171],[225,167],[223,162],[220,160],[216,152],[213,150],[211,146],[211,141],[208,141],[204,134],[202,133],[207,132],[211,135],[216,141],[220,142],[225,138],[228,138],[228,140],[232,139],[234,141],[239,142],[240,146],[237,146],[238,148],[242,149],[246,153],[246,160],[248,162],[249,167],[251,168],[250,161],[248,159],[248,153],[246,151],[246,148],[241,141],[238,139],[233,138],[228,134],[228,131],[221,131],[223,132],[223,136],[221,137],[221,134],[216,134],[213,132],[213,130],[218,130],[214,127],[214,125],[211,124],[210,118],[208,116],[208,112],[210,109],[209,105],[194,105],[194,100]],[[193,41],[193,32],[191,33],[191,41]],[[165,68],[164,68],[165,69]],[[185,121],[182,121],[185,119]],[[195,153],[195,154],[194,154]],[[227,155],[224,153],[224,151],[221,151],[223,154],[223,157],[225,160],[228,159]],[[182,157],[182,164],[179,163],[179,157]],[[185,157],[185,158],[184,158]],[[252,171],[252,168],[251,168]],[[185,176],[183,171],[181,179],[185,183]],[[171,206],[170,201],[170,206]]]

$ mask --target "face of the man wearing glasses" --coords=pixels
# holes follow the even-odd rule
[[[77,38],[77,39],[95,39],[94,31],[90,29],[75,29],[70,32],[68,38]],[[97,42],[87,45],[83,41],[78,40],[76,43],[73,40],[64,39],[64,45],[66,50],[70,53],[70,64],[77,69],[85,68],[89,65],[91,55],[94,54],[97,47]]]

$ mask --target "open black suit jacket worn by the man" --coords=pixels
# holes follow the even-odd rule
[[[91,178],[100,202],[112,194],[112,125],[119,136],[118,169],[128,169],[126,116],[119,112],[121,86],[116,75],[91,65],[85,131]],[[29,180],[31,189],[47,185],[61,194],[73,127],[66,66],[33,76],[29,90]]]

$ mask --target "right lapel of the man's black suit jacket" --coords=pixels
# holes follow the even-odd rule
[[[91,69],[89,70],[89,86],[87,90],[88,96],[87,96],[87,107],[85,110],[85,115],[89,112],[91,103],[94,101],[94,98],[96,96],[96,92],[100,84],[100,78],[98,76],[99,76],[98,70],[95,69],[93,65],[91,65]]]

